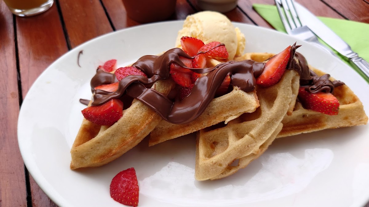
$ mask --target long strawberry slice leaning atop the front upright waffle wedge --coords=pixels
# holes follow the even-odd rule
[[[256,78],[256,84],[268,87],[278,83],[286,70],[287,63],[291,56],[290,51],[291,46],[288,46],[282,52],[268,60],[268,62],[265,63],[263,73]]]

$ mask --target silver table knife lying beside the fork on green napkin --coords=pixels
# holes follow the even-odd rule
[[[359,57],[357,53],[351,50],[350,46],[336,35],[330,28],[321,22],[307,8],[301,6],[295,1],[295,8],[301,21],[301,24],[306,25],[320,39],[327,43],[331,48],[335,49],[342,56],[345,56],[350,63],[361,70],[367,78],[369,78],[369,63]]]

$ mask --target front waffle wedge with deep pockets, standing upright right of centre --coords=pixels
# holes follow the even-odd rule
[[[296,100],[299,76],[286,71],[279,83],[256,88],[260,107],[218,129],[203,129],[196,140],[195,178],[219,179],[244,168],[262,154],[282,129],[280,123]],[[237,165],[232,162],[238,159]]]

